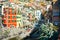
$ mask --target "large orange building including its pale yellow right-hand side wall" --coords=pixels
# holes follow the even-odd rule
[[[9,6],[3,6],[2,10],[2,21],[4,27],[22,27],[23,20],[20,10],[18,10],[18,6],[14,6],[14,8]],[[17,8],[16,8],[17,7]],[[20,8],[19,8],[20,9]]]

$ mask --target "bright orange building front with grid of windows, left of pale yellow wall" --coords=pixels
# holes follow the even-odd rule
[[[7,27],[16,27],[17,26],[17,22],[16,22],[16,11],[12,8],[3,8],[3,25],[7,26]]]

